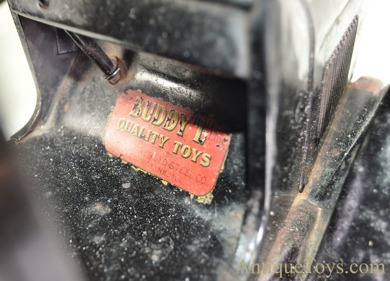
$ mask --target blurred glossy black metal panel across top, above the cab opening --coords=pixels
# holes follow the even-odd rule
[[[46,10],[35,1],[10,0],[13,11],[128,49],[194,64],[207,71],[248,77],[246,25],[252,0],[52,0]]]

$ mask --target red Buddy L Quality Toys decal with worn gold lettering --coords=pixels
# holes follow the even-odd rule
[[[108,152],[197,196],[213,189],[229,142],[215,120],[134,91],[119,96],[104,140]]]

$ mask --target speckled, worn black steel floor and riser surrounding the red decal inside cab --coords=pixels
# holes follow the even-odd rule
[[[23,165],[93,279],[215,280],[234,255],[244,213],[245,84],[147,55],[124,60],[128,76],[114,87],[77,56],[47,123],[18,143]],[[108,156],[108,118],[129,89],[229,124],[232,145],[211,204]]]

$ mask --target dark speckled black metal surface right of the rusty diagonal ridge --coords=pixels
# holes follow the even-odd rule
[[[343,263],[343,273],[332,274],[328,280],[389,280],[390,277],[389,94],[359,141],[355,161],[316,256],[317,261]],[[350,270],[353,263],[357,264],[353,271],[367,264],[369,274],[353,274]],[[366,270],[365,265],[362,268]],[[325,278],[314,274],[309,280]]]

